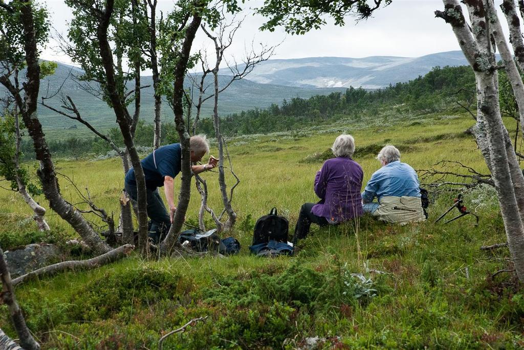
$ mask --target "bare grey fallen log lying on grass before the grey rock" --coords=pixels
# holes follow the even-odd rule
[[[26,280],[34,279],[44,275],[51,276],[65,270],[91,269],[106,265],[128,255],[131,251],[133,251],[134,248],[135,246],[132,244],[124,244],[116,249],[113,249],[112,251],[91,259],[64,261],[58,264],[42,267],[38,270],[31,271],[28,274],[13,279],[13,286],[19,285]]]

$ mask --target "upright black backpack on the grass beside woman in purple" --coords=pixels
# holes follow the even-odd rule
[[[288,229],[288,220],[278,216],[277,208],[273,208],[268,215],[257,220],[252,245],[268,243],[270,240],[287,243]]]

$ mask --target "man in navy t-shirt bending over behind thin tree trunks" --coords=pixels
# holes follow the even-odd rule
[[[191,145],[191,162],[199,162],[204,154],[209,153],[209,144],[205,135],[192,136]],[[140,164],[144,170],[146,178],[147,193],[147,216],[151,219],[150,237],[155,243],[165,235],[171,223],[173,222],[174,212],[177,208],[174,206],[174,177],[180,173],[180,161],[182,159],[180,143],[172,143],[162,146],[147,157]],[[193,174],[200,174],[204,171],[211,170],[217,164],[217,159],[210,156],[207,164],[192,165]],[[169,213],[163,204],[162,198],[158,193],[158,187],[164,188],[166,200],[169,207]],[[125,177],[125,188],[129,197],[135,203],[137,200],[137,188],[135,171],[130,168]]]

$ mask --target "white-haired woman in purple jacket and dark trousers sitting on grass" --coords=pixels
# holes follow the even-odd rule
[[[351,159],[355,151],[355,140],[342,134],[331,148],[334,158],[322,165],[315,177],[317,204],[305,203],[300,209],[294,241],[305,238],[311,223],[320,226],[335,225],[362,216],[362,167]]]

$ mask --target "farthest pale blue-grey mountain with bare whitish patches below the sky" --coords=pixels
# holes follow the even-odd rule
[[[466,65],[462,51],[439,52],[417,58],[372,56],[365,58],[310,57],[261,62],[249,74],[260,84],[296,87],[359,87],[377,89],[413,80],[434,66]]]

